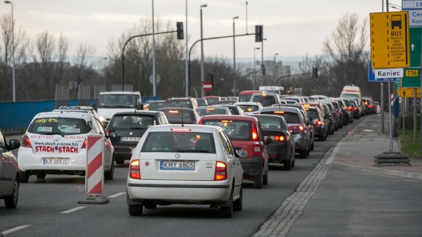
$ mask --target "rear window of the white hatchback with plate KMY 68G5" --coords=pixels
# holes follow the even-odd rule
[[[141,151],[215,153],[215,142],[211,133],[151,132]]]

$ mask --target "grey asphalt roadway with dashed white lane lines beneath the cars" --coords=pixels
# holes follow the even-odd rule
[[[360,120],[343,127],[324,142],[316,141],[306,159],[296,159],[291,171],[271,164],[268,185],[262,190],[243,183],[243,210],[231,219],[221,218],[217,209],[201,205],[158,206],[144,209],[140,217],[129,216],[126,204],[128,163],[116,165],[114,179],[105,181],[106,204],[78,204],[85,200],[85,177],[31,176],[21,184],[16,209],[0,204],[0,232],[13,236],[238,236],[256,233],[283,201],[314,169],[324,154]],[[19,137],[19,136],[17,136]],[[14,138],[8,136],[9,140]],[[16,153],[16,152],[15,152]],[[127,162],[127,161],[126,161]]]

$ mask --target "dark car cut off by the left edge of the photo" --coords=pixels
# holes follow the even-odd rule
[[[19,166],[11,150],[20,146],[20,141],[11,139],[7,144],[0,131],[0,199],[7,209],[16,208],[19,197]]]

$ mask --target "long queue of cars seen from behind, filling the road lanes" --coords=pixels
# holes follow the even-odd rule
[[[329,100],[287,105],[271,93],[254,92],[250,100],[199,106],[195,98],[169,98],[156,110],[116,112],[106,128],[90,108],[39,113],[20,142],[0,140],[4,154],[19,148],[13,182],[0,186],[0,198],[7,208],[16,207],[19,183],[31,175],[85,175],[87,137],[99,135],[106,180],[113,179],[114,161],[129,160],[130,215],[157,205],[205,204],[231,217],[242,209],[244,180],[262,189],[269,163],[291,170],[296,157],[314,149],[315,137],[323,141],[328,128],[339,128],[343,106]]]

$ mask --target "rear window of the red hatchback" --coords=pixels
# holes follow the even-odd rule
[[[249,141],[252,125],[250,121],[243,120],[203,120],[202,124],[218,126],[224,129],[233,141]]]

